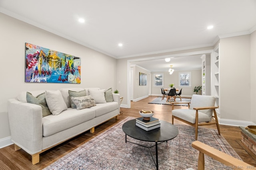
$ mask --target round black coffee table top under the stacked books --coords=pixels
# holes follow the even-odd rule
[[[178,128],[166,121],[160,120],[160,128],[145,131],[136,126],[136,119],[127,121],[122,126],[124,133],[134,139],[147,142],[169,141],[178,135]]]

